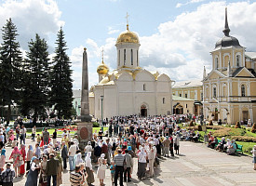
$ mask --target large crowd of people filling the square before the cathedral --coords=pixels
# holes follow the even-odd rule
[[[59,186],[63,171],[70,171],[72,186],[92,186],[96,179],[102,186],[106,171],[110,171],[115,186],[118,179],[119,185],[123,186],[123,182],[132,181],[135,174],[138,179],[155,177],[155,167],[159,165],[160,158],[180,153],[180,140],[199,140],[199,133],[177,125],[186,120],[186,115],[112,117],[106,122],[108,136],[104,138],[100,129],[92,135],[84,149],[79,148],[78,136],[72,137],[69,130],[64,130],[61,138],[59,132],[58,138],[57,129],[49,134],[44,128],[42,133],[36,135],[34,126],[34,145],[26,146],[25,126],[18,125],[14,129],[7,126],[0,131],[3,184],[12,185],[15,177],[25,175],[26,186]],[[235,153],[234,141],[222,139],[222,142],[216,142],[218,140],[209,133],[209,147]],[[13,148],[8,157],[12,160],[13,169],[6,161],[6,146]],[[256,156],[256,148],[253,153]],[[7,168],[4,169],[6,163]],[[138,165],[136,170],[135,165]]]

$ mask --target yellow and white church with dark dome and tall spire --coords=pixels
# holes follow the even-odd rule
[[[246,52],[229,35],[227,12],[223,33],[211,52],[211,72],[204,70],[204,116],[228,124],[256,122],[256,52]]]

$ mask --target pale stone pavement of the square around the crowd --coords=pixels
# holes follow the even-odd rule
[[[30,143],[30,140],[28,141]],[[7,150],[7,158],[9,157]],[[256,171],[253,170],[252,158],[244,155],[230,156],[226,153],[216,152],[202,143],[181,141],[180,155],[162,158],[160,166],[155,168],[154,179],[139,180],[136,177],[137,159],[134,159],[135,167],[132,174],[132,182],[124,183],[128,186],[209,186],[209,185],[255,185]],[[95,185],[99,184],[96,178]],[[69,172],[62,175],[63,186],[70,186]],[[106,170],[106,186],[111,186],[110,170]],[[18,178],[14,185],[24,185],[25,178]]]

